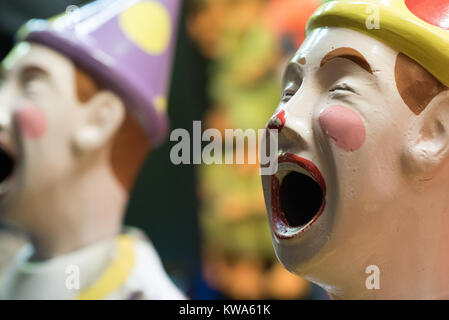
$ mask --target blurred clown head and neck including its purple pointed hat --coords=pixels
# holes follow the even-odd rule
[[[30,235],[38,258],[120,232],[166,134],[179,4],[96,1],[19,31],[2,64],[0,219]]]

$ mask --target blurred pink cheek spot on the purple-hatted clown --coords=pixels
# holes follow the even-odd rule
[[[19,108],[17,118],[25,137],[40,139],[47,131],[47,118],[42,109],[30,106]]]

